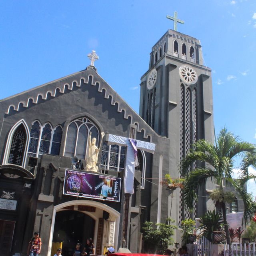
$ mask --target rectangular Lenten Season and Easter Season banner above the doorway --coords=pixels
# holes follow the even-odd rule
[[[63,194],[120,202],[121,178],[66,170]]]

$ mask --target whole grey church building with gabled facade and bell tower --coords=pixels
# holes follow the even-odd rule
[[[214,184],[199,191],[193,213],[182,190],[171,204],[160,184],[165,174],[179,177],[194,141],[214,138],[211,70],[201,47],[176,30],[154,44],[139,114],[98,74],[94,51],[85,70],[0,100],[0,256],[26,254],[34,232],[47,256],[61,243],[73,255],[89,237],[95,254],[109,246],[141,252],[146,220],[171,215],[180,226],[209,209],[204,196]]]

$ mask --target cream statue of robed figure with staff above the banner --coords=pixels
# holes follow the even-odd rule
[[[101,133],[101,141],[100,141],[100,146],[102,143],[102,138],[104,137],[104,132]],[[99,151],[100,151],[100,146],[97,148],[96,146],[96,138],[92,138],[92,132],[89,134],[89,140],[88,140],[88,148],[87,148],[87,153],[86,153],[86,171],[93,171],[93,172],[98,172],[98,166],[96,166],[98,162],[98,156],[99,156]]]

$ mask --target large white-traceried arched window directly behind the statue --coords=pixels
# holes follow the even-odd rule
[[[92,132],[91,138],[96,138],[98,145],[99,130],[91,120],[83,117],[72,121],[68,126],[64,156],[85,159],[90,132]]]

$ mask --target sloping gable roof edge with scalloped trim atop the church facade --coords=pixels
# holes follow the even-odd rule
[[[86,70],[76,72],[69,76],[42,84],[30,90],[26,90],[19,94],[10,96],[0,101],[4,104],[5,114],[10,114],[10,110],[19,112],[20,109],[28,108],[30,103],[38,104],[38,99],[47,100],[49,96],[56,97],[56,93],[65,94],[68,90],[74,90],[76,87],[81,87],[83,84],[89,85],[89,79],[92,79],[91,85],[98,86],[98,93],[104,93],[104,98],[111,98],[110,104],[117,104],[117,112],[123,112],[124,119],[130,117],[130,124],[137,126],[137,132],[144,132],[143,137],[157,135],[156,132],[119,96],[113,88],[94,70],[92,66],[88,66]]]

